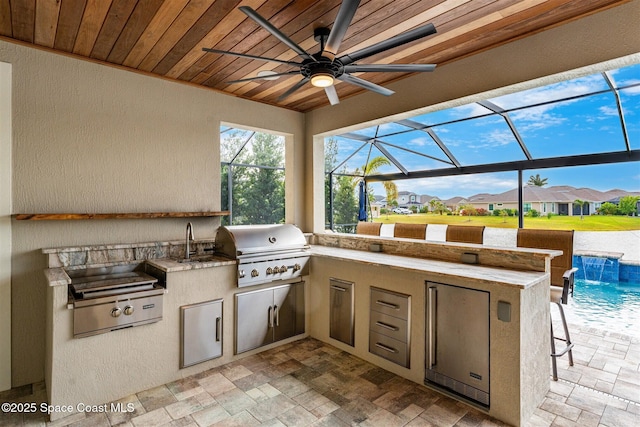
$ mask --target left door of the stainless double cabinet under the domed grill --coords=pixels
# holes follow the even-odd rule
[[[236,354],[273,342],[273,290],[236,294]]]

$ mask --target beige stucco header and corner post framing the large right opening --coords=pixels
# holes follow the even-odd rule
[[[308,113],[305,141],[321,144],[322,139],[317,135],[342,132],[385,118],[391,120],[394,116],[404,118],[409,112],[420,114],[463,105],[483,99],[478,94],[497,96],[511,85],[519,84],[519,89],[524,89],[543,84],[534,82],[535,79],[546,83],[563,80],[567,77],[562,73],[567,71],[637,54],[640,52],[638,22],[640,0],[633,0],[456,62],[439,64],[433,73],[417,74],[387,85],[396,92],[390,97],[369,92]],[[632,59],[639,60],[638,57]],[[628,59],[617,62],[618,66],[628,64]],[[573,74],[577,77],[594,72],[597,67]],[[324,229],[322,211],[314,210],[315,206],[322,206],[324,200],[324,176],[319,167],[323,159],[317,156],[321,153],[316,148],[308,148],[305,172],[306,221],[315,232]]]

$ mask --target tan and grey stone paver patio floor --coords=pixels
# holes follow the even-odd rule
[[[527,425],[640,425],[640,339],[572,326],[575,365]],[[0,400],[44,399],[44,386]],[[312,338],[282,345],[121,401],[133,412],[78,413],[55,422],[0,413],[1,426],[503,426],[482,412]]]

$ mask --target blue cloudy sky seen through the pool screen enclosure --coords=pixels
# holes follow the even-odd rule
[[[640,149],[640,64],[606,72],[618,90],[630,148]],[[443,152],[432,135],[397,123],[355,131],[363,140],[335,137],[334,167],[353,172],[377,156],[390,154],[409,171],[432,170],[525,160],[517,136],[533,159],[595,154],[626,149],[616,96],[601,74],[561,81],[547,86],[435,111],[409,119],[430,127],[449,150]],[[483,104],[483,105],[481,105]],[[496,109],[497,108],[497,109]],[[490,109],[493,109],[490,110]],[[506,112],[510,123],[496,111]],[[366,139],[376,138],[376,143]],[[358,148],[359,151],[358,151]],[[355,152],[355,154],[353,154]],[[351,156],[351,157],[350,157]],[[455,159],[455,162],[451,159]],[[377,173],[398,173],[393,163]],[[527,170],[523,181],[540,174],[547,186],[570,185],[600,191],[622,189],[640,192],[640,163],[576,166]],[[398,180],[399,191],[412,191],[447,199],[488,192],[501,193],[518,184],[517,172]],[[383,195],[381,184],[372,184]]]

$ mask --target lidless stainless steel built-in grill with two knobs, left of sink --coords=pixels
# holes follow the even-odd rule
[[[73,336],[83,338],[162,319],[165,288],[141,264],[69,271]]]

